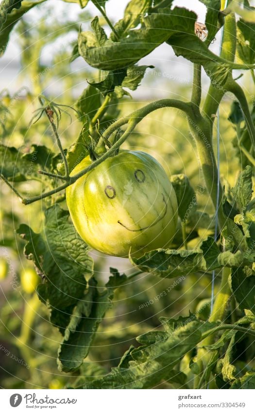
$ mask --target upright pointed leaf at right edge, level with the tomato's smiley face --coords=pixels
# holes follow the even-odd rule
[[[252,175],[252,167],[246,166],[246,168],[240,173],[236,185],[232,188],[234,199],[242,211],[246,209],[248,203],[252,199]]]

